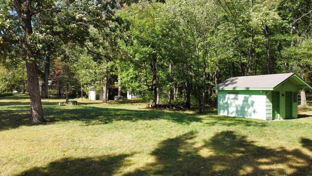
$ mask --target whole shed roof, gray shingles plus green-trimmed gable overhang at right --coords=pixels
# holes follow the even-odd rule
[[[312,87],[295,73],[232,77],[218,84],[214,90],[273,90],[291,79],[300,89]]]

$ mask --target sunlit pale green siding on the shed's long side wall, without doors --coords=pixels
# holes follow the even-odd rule
[[[229,99],[229,93],[238,93],[237,99]],[[218,90],[218,114],[266,120],[265,91]]]

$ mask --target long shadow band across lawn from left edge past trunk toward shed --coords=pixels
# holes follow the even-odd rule
[[[11,109],[13,108],[13,109]],[[0,109],[0,131],[18,128],[20,126],[33,126],[57,123],[59,121],[80,121],[83,125],[100,125],[116,121],[151,121],[167,120],[179,124],[190,124],[193,122],[206,123],[207,126],[222,125],[243,125],[243,126],[265,126],[265,122],[253,119],[233,118],[208,114],[185,113],[183,111],[162,111],[162,110],[126,110],[109,107],[95,106],[57,106],[44,105],[43,111],[46,122],[42,124],[30,123],[30,107],[20,105]],[[204,121],[203,121],[204,120]]]

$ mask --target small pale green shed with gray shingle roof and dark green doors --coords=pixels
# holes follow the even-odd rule
[[[312,87],[295,73],[233,77],[213,88],[219,115],[262,120],[297,118],[303,89]]]

